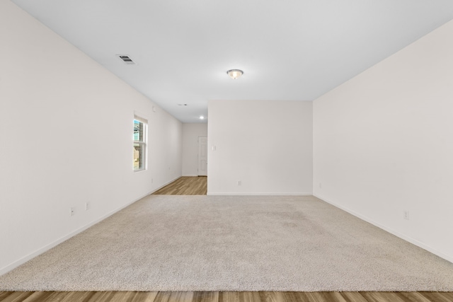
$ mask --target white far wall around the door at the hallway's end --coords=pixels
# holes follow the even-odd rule
[[[183,176],[198,175],[198,137],[207,137],[207,123],[183,124]]]

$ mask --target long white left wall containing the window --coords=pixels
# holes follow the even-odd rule
[[[1,274],[178,178],[182,124],[6,0],[0,39]],[[134,112],[150,129],[139,173]]]

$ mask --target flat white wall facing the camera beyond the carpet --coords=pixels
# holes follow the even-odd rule
[[[208,105],[207,194],[311,194],[311,102]]]

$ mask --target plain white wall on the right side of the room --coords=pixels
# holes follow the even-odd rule
[[[449,22],[314,101],[314,194],[453,262],[452,184]]]

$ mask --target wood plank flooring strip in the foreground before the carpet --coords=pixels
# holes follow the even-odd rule
[[[444,292],[0,291],[0,302],[453,302]]]

